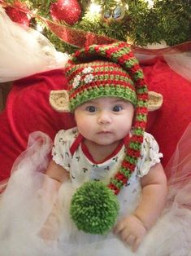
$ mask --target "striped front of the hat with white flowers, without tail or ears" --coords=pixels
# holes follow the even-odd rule
[[[74,64],[75,60],[76,55],[66,67],[71,112],[80,104],[100,97],[119,97],[137,104],[132,77],[119,64],[103,60]]]

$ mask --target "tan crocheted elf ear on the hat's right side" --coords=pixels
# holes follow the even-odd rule
[[[161,108],[163,104],[163,95],[161,95],[158,92],[149,91],[149,100],[148,100],[148,110],[149,111],[154,111],[157,110],[158,108]]]

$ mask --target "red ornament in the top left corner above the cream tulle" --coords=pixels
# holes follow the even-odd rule
[[[29,26],[31,20],[30,15],[28,15],[29,10],[21,2],[15,1],[14,7],[5,7],[5,10],[12,21],[25,27]]]

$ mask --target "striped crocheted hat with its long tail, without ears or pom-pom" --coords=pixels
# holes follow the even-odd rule
[[[126,42],[93,45],[76,51],[66,66],[70,110],[100,97],[119,97],[135,106],[132,137],[122,166],[108,185],[118,194],[140,157],[147,119],[148,90],[138,60]]]

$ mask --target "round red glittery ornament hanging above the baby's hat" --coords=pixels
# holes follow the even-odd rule
[[[50,6],[50,15],[54,21],[65,21],[67,24],[75,24],[81,14],[80,5],[76,0],[58,0]]]

